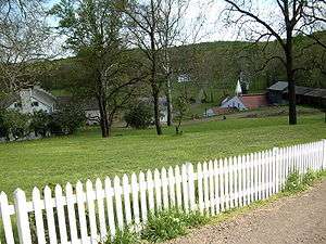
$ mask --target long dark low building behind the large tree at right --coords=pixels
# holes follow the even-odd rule
[[[268,101],[272,104],[288,103],[288,82],[277,81],[267,88]],[[326,107],[326,89],[296,86],[298,104]]]

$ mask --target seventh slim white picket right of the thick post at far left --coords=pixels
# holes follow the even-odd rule
[[[100,224],[100,241],[105,241],[108,235],[106,221],[105,221],[105,208],[104,208],[104,195],[102,181],[98,178],[96,180],[96,197],[98,201],[98,214]]]

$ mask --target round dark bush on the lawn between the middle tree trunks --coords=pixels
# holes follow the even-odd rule
[[[136,129],[146,129],[152,124],[152,108],[145,103],[138,103],[124,116],[128,126]]]

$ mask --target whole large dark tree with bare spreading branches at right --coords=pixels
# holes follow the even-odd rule
[[[305,35],[316,38],[313,31],[325,27],[326,1],[324,0],[224,0],[227,21],[246,29],[246,36],[256,42],[276,40],[283,55],[274,55],[285,65],[288,79],[289,124],[297,124],[296,81],[297,67],[293,65],[293,38]],[[262,8],[263,7],[263,8]],[[273,17],[275,16],[275,18]],[[316,39],[318,41],[318,39]]]

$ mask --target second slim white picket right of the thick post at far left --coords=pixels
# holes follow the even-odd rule
[[[48,223],[50,244],[55,244],[58,240],[57,240],[57,231],[55,231],[55,222],[54,222],[54,214],[53,214],[54,206],[52,202],[51,189],[48,185],[45,188],[45,206],[47,213],[47,223]]]

